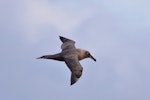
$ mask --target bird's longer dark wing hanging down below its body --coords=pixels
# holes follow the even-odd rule
[[[76,83],[82,75],[82,66],[79,63],[77,55],[69,55],[65,57],[65,63],[71,71],[71,85]]]

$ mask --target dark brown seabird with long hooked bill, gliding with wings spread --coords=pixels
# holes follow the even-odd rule
[[[79,61],[85,58],[91,58],[96,62],[96,59],[90,54],[89,51],[76,48],[74,40],[63,36],[59,36],[59,38],[62,41],[62,51],[60,53],[53,55],[43,55],[37,59],[52,59],[65,62],[71,71],[70,85],[73,85],[82,75],[83,67]]]

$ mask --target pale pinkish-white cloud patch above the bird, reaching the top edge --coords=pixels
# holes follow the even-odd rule
[[[68,4],[69,5],[69,4]],[[26,0],[22,20],[25,23],[26,35],[32,41],[38,40],[42,26],[48,25],[57,34],[72,33],[80,24],[93,16],[92,8],[86,6],[76,10],[71,7],[53,4],[47,0]]]

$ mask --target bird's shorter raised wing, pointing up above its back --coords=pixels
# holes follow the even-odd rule
[[[61,45],[61,49],[63,50],[68,50],[68,49],[75,49],[75,41],[67,39],[65,37],[59,36],[60,40],[63,42]]]

